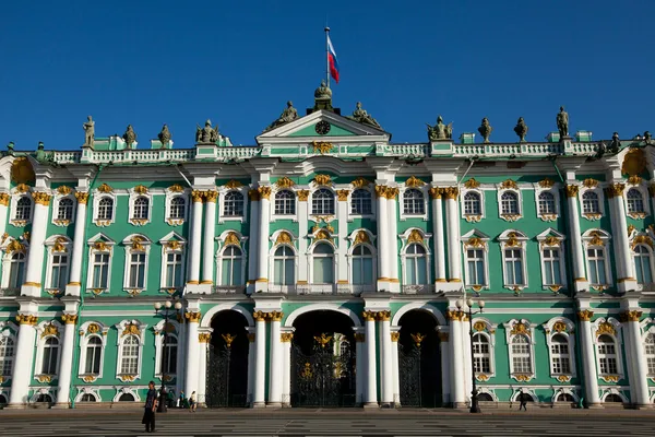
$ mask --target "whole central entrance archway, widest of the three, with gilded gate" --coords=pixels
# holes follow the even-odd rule
[[[291,406],[355,406],[353,320],[337,311],[306,312],[294,320]]]

